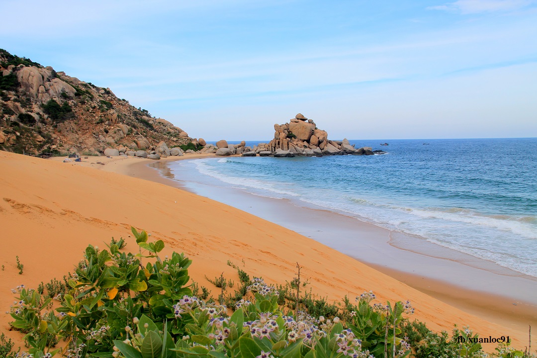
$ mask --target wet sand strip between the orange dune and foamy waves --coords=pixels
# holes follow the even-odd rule
[[[199,156],[198,158],[207,158],[209,156]],[[174,158],[175,159],[175,158]],[[185,182],[182,182],[180,179],[173,179],[173,174],[170,172],[167,163],[170,161],[175,160],[185,160],[185,159],[195,159],[193,156],[189,157],[180,157],[177,159],[172,160],[164,160],[162,162],[153,162],[142,165],[142,163],[132,165],[132,171],[133,173],[137,173],[137,177],[160,182],[161,184],[170,185],[173,187],[181,188],[189,192],[193,192],[194,194],[202,195],[199,192],[192,190],[192,188],[189,188]],[[272,207],[277,206],[281,209],[281,202],[286,202],[286,200],[282,199],[273,199],[273,198],[266,198],[266,197],[259,197],[254,194],[246,193],[244,191],[240,191],[238,189],[234,189],[235,194],[237,192],[240,192],[240,199],[234,199],[234,200],[245,200],[250,205],[253,201],[263,202],[263,205],[266,205],[267,202],[273,202],[271,204]],[[219,188],[219,192],[221,192],[221,188]],[[214,193],[213,193],[214,194]],[[244,199],[245,196],[251,196],[249,199]],[[208,198],[213,199],[213,195],[208,196]],[[252,198],[255,197],[255,198]],[[219,202],[222,202],[219,199],[214,199]],[[236,207],[238,209],[250,212],[251,214],[258,215],[256,212],[251,212],[247,210],[248,208],[241,207],[241,205],[237,205],[237,203],[232,204],[229,202],[224,202],[226,204],[230,204],[233,207]],[[259,206],[259,205],[258,205]],[[353,257],[354,259],[364,262],[364,264],[373,267],[377,269],[378,271],[387,274],[391,277],[394,277],[398,281],[401,281],[405,284],[408,284],[410,287],[413,287],[419,291],[422,291],[423,293],[426,293],[434,298],[439,299],[442,302],[445,302],[449,305],[455,306],[456,308],[459,308],[465,312],[468,312],[472,315],[478,315],[479,317],[482,317],[484,319],[489,320],[490,322],[503,324],[503,325],[510,325],[512,327],[517,327],[520,329],[524,329],[524,327],[527,327],[528,324],[535,325],[537,324],[537,304],[535,302],[531,301],[531,298],[534,298],[534,296],[531,294],[532,292],[537,291],[537,280],[535,280],[534,277],[527,276],[515,271],[512,271],[511,269],[499,266],[495,264],[494,262],[478,259],[475,257],[472,257],[468,254],[463,254],[460,252],[456,252],[454,250],[448,249],[447,247],[439,246],[437,244],[433,244],[430,242],[426,242],[426,246],[434,247],[436,246],[437,250],[442,251],[440,254],[440,257],[436,257],[435,255],[429,255],[427,253],[413,251],[411,249],[403,249],[400,247],[400,243],[404,241],[405,239],[414,239],[419,240],[417,238],[412,238],[407,235],[402,235],[400,232],[390,231],[387,229],[380,228],[374,224],[362,222],[355,218],[351,218],[349,216],[345,216],[338,213],[333,213],[332,211],[328,210],[322,210],[322,209],[312,209],[307,207],[296,207],[294,204],[290,202],[286,202],[285,206],[288,206],[292,208],[292,211],[301,211],[304,213],[304,211],[308,212],[309,214],[304,214],[302,217],[302,220],[304,220],[305,217],[312,218],[315,223],[318,225],[320,221],[319,215],[323,216],[326,221],[337,221],[340,225],[342,224],[342,220],[346,221],[346,223],[343,223],[343,227],[347,227],[346,230],[353,230],[356,228],[359,228],[366,232],[372,232],[373,235],[376,236],[376,238],[379,237],[379,231],[384,231],[384,234],[388,234],[388,237],[386,238],[386,241],[384,244],[378,244],[373,243],[371,247],[366,249],[365,251],[373,252],[373,251],[379,251],[376,255],[377,258],[386,257],[386,249],[390,251],[388,253],[388,257],[391,261],[391,259],[398,259],[403,264],[405,262],[412,262],[412,265],[416,266],[416,259],[419,261],[422,261],[422,270],[424,270],[424,267],[426,268],[431,267],[431,265],[439,265],[440,271],[442,272],[452,272],[453,276],[456,277],[463,277],[463,280],[458,279],[459,282],[452,282],[450,280],[446,280],[446,277],[444,279],[438,278],[438,277],[428,277],[423,276],[421,274],[416,273],[416,271],[420,272],[417,269],[412,270],[403,270],[403,269],[397,269],[394,267],[389,267],[387,265],[380,265],[378,262],[375,262],[374,259],[364,259],[363,255],[353,255],[351,253],[348,253],[345,251],[344,246],[348,245],[349,242],[344,242],[340,245],[331,245],[331,242],[327,240],[320,240],[316,237],[314,232],[311,230],[305,229],[305,227],[309,226],[313,222],[310,222],[308,224],[304,224],[303,227],[293,227],[293,225],[289,225],[290,222],[278,222],[271,220],[270,218],[260,216],[265,218],[266,220],[269,220],[271,222],[274,222],[275,224],[281,225],[283,227],[286,227],[288,229],[291,229],[295,232],[300,233],[301,235],[313,238],[317,240],[318,242],[321,242],[325,245],[328,245],[332,247],[333,249],[338,250],[339,252],[345,253]],[[287,215],[289,212],[287,213]],[[285,215],[284,215],[285,216]],[[287,216],[289,217],[289,216]],[[321,224],[321,227],[323,225]],[[352,228],[349,228],[352,227]],[[319,227],[317,227],[319,228]],[[376,231],[376,232],[375,232]],[[317,230],[318,232],[318,230]],[[331,232],[333,232],[333,227]],[[308,235],[309,234],[309,235]],[[394,243],[394,239],[392,238],[393,235],[396,236],[404,236],[404,238],[399,237],[397,239],[397,243]],[[382,234],[381,234],[382,235]],[[423,241],[423,239],[422,239]],[[356,244],[356,243],[354,243]],[[368,244],[371,245],[372,241],[368,240]],[[423,244],[423,243],[422,243]],[[384,250],[384,252],[380,251]],[[452,257],[446,258],[441,257],[442,254],[445,256],[446,253],[451,252]],[[456,257],[460,257],[461,255],[466,255],[469,257],[469,261],[480,261],[477,265],[470,265],[468,262],[461,262],[456,260]],[[455,258],[453,258],[455,257]],[[427,261],[427,262],[423,262]],[[382,262],[382,261],[380,261]],[[386,261],[384,261],[386,262]],[[481,265],[480,265],[481,264]],[[479,267],[482,266],[482,267]],[[483,267],[484,266],[484,267]],[[427,272],[427,271],[421,271],[421,272]],[[468,274],[468,272],[470,272]],[[497,280],[495,280],[497,279]],[[475,282],[475,281],[478,282]],[[498,281],[499,280],[499,281]],[[490,282],[495,282],[494,285],[491,285]],[[528,286],[529,285],[529,286]],[[490,290],[491,286],[495,286],[495,290]],[[523,287],[524,286],[524,287]],[[498,291],[503,293],[508,293],[512,291],[516,291],[515,295],[513,294],[500,294]],[[518,291],[517,291],[518,290]]]

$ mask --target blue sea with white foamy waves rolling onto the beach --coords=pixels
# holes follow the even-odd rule
[[[170,169],[352,216],[537,277],[537,138],[350,142],[388,154],[211,158]]]

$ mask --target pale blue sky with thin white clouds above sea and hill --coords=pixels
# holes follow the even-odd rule
[[[2,0],[0,48],[207,141],[537,137],[537,0]]]

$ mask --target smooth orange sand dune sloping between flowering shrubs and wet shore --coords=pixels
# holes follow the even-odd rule
[[[514,346],[524,347],[527,325],[536,323],[535,306],[524,299],[492,296],[480,287],[471,290],[471,284],[455,291],[454,286],[420,273],[380,265],[373,268],[342,253],[344,250],[301,235],[299,229],[284,228],[179,189],[176,180],[147,166],[154,163],[150,159],[89,157],[81,163],[61,163],[62,159],[0,152],[0,217],[6,238],[0,253],[0,264],[5,266],[0,275],[4,289],[0,305],[4,311],[13,300],[11,288],[21,283],[37,287],[41,281],[61,279],[72,271],[88,244],[104,247],[111,237],[123,237],[126,250],[134,250],[134,239],[128,237],[132,225],[164,240],[165,254],[185,252],[193,260],[190,276],[209,289],[212,284],[205,275],[223,272],[224,277],[237,280],[228,260],[269,283],[292,280],[299,262],[313,293],[337,301],[373,290],[380,302],[410,299],[416,308],[411,318],[423,320],[435,331],[451,331],[455,323],[469,325],[484,337],[509,335]],[[375,230],[367,225],[362,228],[354,235],[364,240]],[[410,259],[404,256],[405,250],[389,246],[398,258],[403,255],[401,260]],[[16,256],[24,264],[22,275],[16,268]],[[440,260],[428,265],[438,265]],[[483,271],[488,286],[494,284],[486,281],[488,273],[504,277],[506,283],[501,281],[500,286],[518,278]],[[531,295],[531,282],[515,297]],[[10,316],[3,315],[0,330],[20,340],[18,332],[9,331],[9,321]],[[484,349],[490,351],[494,346],[484,344]]]

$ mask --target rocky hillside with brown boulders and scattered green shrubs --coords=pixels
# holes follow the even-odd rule
[[[0,49],[0,149],[39,156],[103,155],[110,147],[125,152],[179,145],[197,148],[198,140],[109,88]]]

